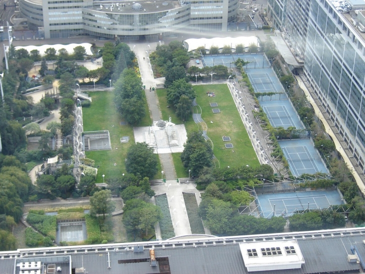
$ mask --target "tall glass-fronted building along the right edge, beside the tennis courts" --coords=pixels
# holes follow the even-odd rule
[[[286,0],[284,0],[286,1]],[[330,0],[269,0],[268,13],[298,52],[303,74],[362,172],[365,172],[365,11]],[[350,4],[349,4],[350,5]]]

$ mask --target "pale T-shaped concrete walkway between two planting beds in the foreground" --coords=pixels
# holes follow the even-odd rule
[[[165,183],[152,185],[151,187],[156,195],[166,193],[175,235],[182,236],[191,234],[182,192],[199,193],[195,188],[195,184],[180,184],[176,180],[169,180]],[[200,203],[199,200],[198,203]]]

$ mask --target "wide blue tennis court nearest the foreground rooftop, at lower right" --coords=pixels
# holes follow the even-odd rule
[[[290,193],[257,195],[262,214],[272,216],[291,216],[298,211],[326,209],[330,205],[343,204],[337,190],[313,190]]]

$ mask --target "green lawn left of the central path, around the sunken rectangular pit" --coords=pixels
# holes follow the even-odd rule
[[[89,108],[82,108],[83,130],[96,131],[108,130],[110,133],[111,150],[88,151],[86,157],[95,160],[95,167],[99,166],[96,182],[102,182],[102,174],[105,180],[108,177],[120,176],[125,173],[125,156],[128,147],[134,143],[133,128],[130,125],[121,126],[120,114],[116,112],[112,92],[92,92],[92,103]],[[138,126],[152,124],[146,107],[146,115]],[[120,143],[120,137],[129,136],[128,143]],[[157,156],[157,155],[156,155]],[[114,165],[116,163],[116,165]],[[159,167],[160,169],[160,167]],[[158,174],[158,173],[157,173]]]

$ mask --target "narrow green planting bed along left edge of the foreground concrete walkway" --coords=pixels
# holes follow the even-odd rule
[[[172,226],[170,209],[168,208],[168,201],[166,194],[154,196],[154,200],[157,206],[161,208],[162,219],[159,221],[159,228],[161,230],[162,239],[168,239],[175,236],[175,232]]]

